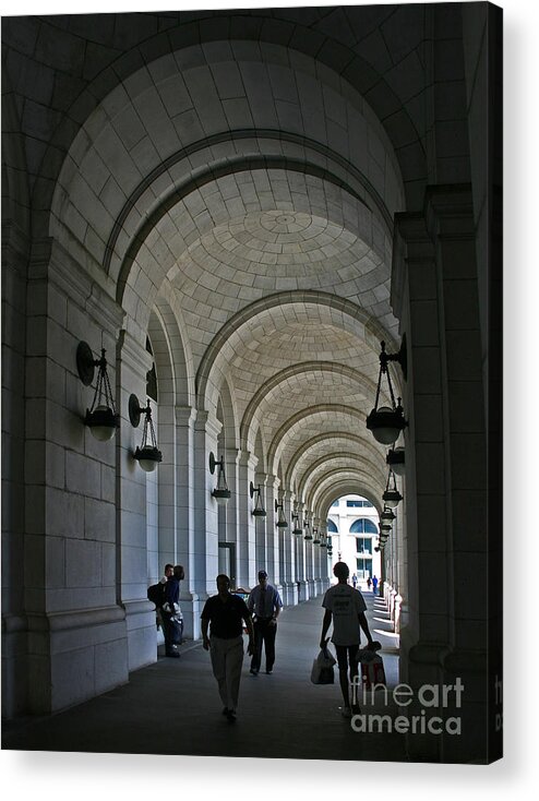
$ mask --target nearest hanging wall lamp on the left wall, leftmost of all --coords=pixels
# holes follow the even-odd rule
[[[100,442],[111,440],[120,428],[120,417],[116,414],[115,399],[107,372],[105,348],[101,348],[101,358],[94,359],[94,354],[85,342],[80,342],[76,348],[76,369],[84,386],[94,381],[95,368],[98,368],[97,384],[92,407],[86,409],[84,425],[92,435]]]

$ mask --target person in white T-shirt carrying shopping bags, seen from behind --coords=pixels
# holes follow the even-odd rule
[[[326,634],[333,621],[332,643],[337,654],[338,678],[345,702],[343,715],[350,718],[352,714],[359,714],[357,705],[350,707],[348,663],[350,666],[350,684],[354,684],[354,679],[358,674],[357,655],[361,639],[360,627],[363,630],[369,645],[373,641],[364,614],[367,606],[363,596],[359,589],[355,589],[348,584],[350,574],[348,565],[345,562],[337,562],[333,569],[333,574],[338,579],[338,584],[330,587],[322,601],[325,614],[322,622],[320,647],[325,648],[327,645],[328,637],[326,638]]]

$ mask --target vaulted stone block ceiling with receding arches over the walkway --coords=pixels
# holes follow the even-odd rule
[[[226,419],[259,469],[321,509],[337,487],[385,486],[366,417],[380,340],[398,340],[402,179],[364,99],[280,50],[187,48],[112,89],[75,138],[52,232],[101,265],[135,338],[166,333],[167,400]],[[257,127],[264,103],[273,124]]]

